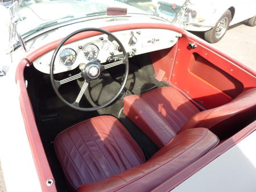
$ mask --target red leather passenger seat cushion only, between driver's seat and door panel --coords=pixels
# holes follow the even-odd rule
[[[166,145],[191,116],[199,112],[183,94],[173,87],[161,87],[124,99],[123,112],[158,147]]]

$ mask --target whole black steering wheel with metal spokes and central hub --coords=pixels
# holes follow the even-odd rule
[[[123,53],[123,57],[121,58],[121,60],[112,62],[110,64],[105,64],[105,65],[100,64],[100,62],[98,62],[98,61],[88,62],[87,64],[80,64],[80,66],[79,66],[79,69],[81,70],[80,73],[76,74],[75,76],[65,78],[64,80],[60,80],[60,81],[55,80],[54,75],[53,75],[54,62],[55,62],[57,53],[59,52],[60,48],[72,36],[74,36],[76,34],[79,34],[81,32],[86,32],[86,31],[97,31],[97,32],[100,32],[102,34],[108,35],[108,39],[110,41],[112,41],[112,42],[116,41],[118,43],[119,47],[121,48],[120,51]],[[120,64],[125,64],[125,76],[123,78],[121,87],[117,91],[117,93],[109,101],[103,103],[102,105],[99,105],[99,106],[96,106],[96,107],[89,107],[89,108],[80,107],[79,102],[82,98],[82,95],[84,95],[85,90],[87,89],[90,81],[95,80],[96,78],[98,78],[103,70],[112,68],[113,66],[117,66],[117,65],[120,65]],[[84,28],[84,29],[72,32],[72,34],[69,34],[67,37],[65,37],[60,42],[60,44],[57,46],[57,48],[55,49],[55,51],[52,55],[52,60],[51,60],[51,65],[50,65],[50,74],[49,75],[50,75],[50,78],[51,78],[51,84],[52,84],[53,90],[55,91],[57,96],[60,98],[60,100],[63,101],[66,105],[68,105],[69,107],[75,108],[76,110],[80,110],[80,111],[95,111],[95,110],[98,110],[100,108],[106,107],[106,106],[110,105],[112,102],[115,101],[115,99],[118,97],[118,95],[121,93],[121,91],[125,87],[127,77],[128,77],[128,72],[129,72],[129,60],[128,60],[128,56],[127,56],[127,53],[125,51],[125,48],[123,47],[121,41],[119,41],[117,39],[117,37],[115,37],[109,31],[102,30],[100,28]],[[76,99],[74,99],[75,102],[69,103],[61,96],[61,94],[59,92],[59,87],[63,84],[66,84],[67,82],[77,80],[79,78],[84,78],[84,84],[81,87],[79,95],[77,96]]]

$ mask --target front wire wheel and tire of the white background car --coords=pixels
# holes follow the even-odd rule
[[[221,40],[229,28],[231,19],[231,11],[226,10],[221,18],[218,19],[216,25],[211,30],[204,32],[204,39],[209,43],[216,43]]]

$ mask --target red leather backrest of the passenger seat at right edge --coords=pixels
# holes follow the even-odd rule
[[[232,102],[193,115],[180,131],[191,127],[207,127],[214,132],[223,131],[226,125],[239,123],[251,114],[256,117],[256,88],[244,91]]]

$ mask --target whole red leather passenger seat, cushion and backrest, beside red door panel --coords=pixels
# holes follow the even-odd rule
[[[226,105],[199,111],[174,87],[161,87],[124,98],[123,112],[158,147],[162,148],[177,133],[192,127],[205,127],[214,133],[225,131],[231,123],[256,113],[256,88],[244,91]]]

